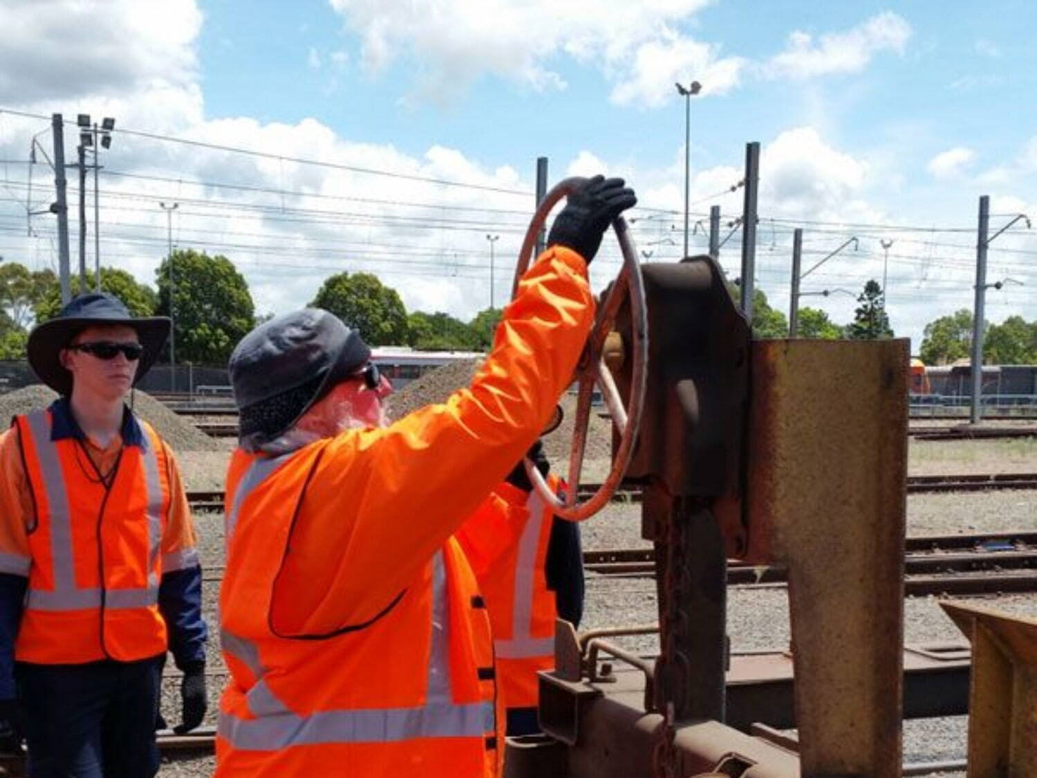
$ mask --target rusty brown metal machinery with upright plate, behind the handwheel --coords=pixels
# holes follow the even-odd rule
[[[647,385],[626,480],[655,546],[661,652],[647,661],[560,622],[557,670],[541,675],[553,740],[524,744],[509,775],[900,775],[907,342],[752,341],[712,258],[640,270]],[[607,348],[624,400],[637,315],[618,310]],[[780,671],[773,656],[730,656],[728,558],[788,569]],[[908,662],[908,683],[949,669],[929,654]],[[606,657],[632,669],[602,669]],[[756,694],[761,672],[781,691]],[[922,713],[960,712],[966,673],[958,654]],[[779,694],[782,717],[757,710]],[[774,732],[790,719],[797,739]],[[538,748],[551,759],[538,765]]]

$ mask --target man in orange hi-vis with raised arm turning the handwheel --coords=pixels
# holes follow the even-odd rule
[[[470,388],[390,426],[360,335],[308,309],[234,350],[218,776],[498,775],[485,604],[453,533],[536,440],[590,331],[587,261],[636,202],[569,197]]]

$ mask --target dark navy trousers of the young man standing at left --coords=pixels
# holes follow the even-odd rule
[[[151,778],[160,658],[17,666],[30,778]]]

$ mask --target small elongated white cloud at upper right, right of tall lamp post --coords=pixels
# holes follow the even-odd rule
[[[857,73],[884,51],[902,54],[912,35],[910,25],[892,11],[884,11],[845,32],[828,32],[816,40],[796,30],[788,47],[763,67],[770,78],[804,79],[832,73]]]

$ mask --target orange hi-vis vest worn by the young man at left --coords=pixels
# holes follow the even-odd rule
[[[49,411],[15,423],[36,507],[16,659],[82,664],[165,654],[159,552],[170,494],[159,436],[139,421],[144,445],[122,450],[106,493],[78,441],[51,440]]]

